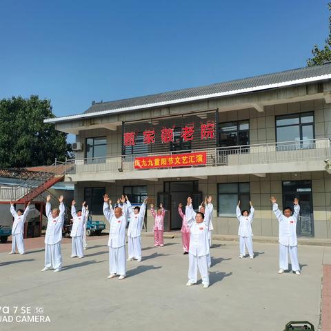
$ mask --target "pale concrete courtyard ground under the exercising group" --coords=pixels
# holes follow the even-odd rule
[[[106,243],[107,237],[94,237],[84,259],[70,259],[71,245],[63,244],[59,273],[40,272],[43,248],[23,256],[1,252],[0,306],[41,307],[51,321],[2,322],[1,330],[277,331],[298,319],[319,325],[322,264],[331,264],[330,247],[299,246],[302,274],[296,276],[277,274],[277,244],[255,243],[257,257],[250,260],[238,259],[238,243],[214,241],[210,288],[203,289],[201,283],[185,286],[188,256],[178,238],[154,248],[153,239],[143,237],[143,261],[128,262],[123,281],[106,278]]]

